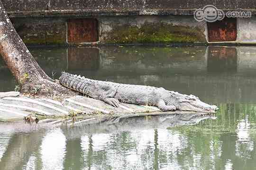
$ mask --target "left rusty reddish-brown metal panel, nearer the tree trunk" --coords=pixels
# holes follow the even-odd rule
[[[69,19],[67,21],[68,43],[98,41],[98,21],[95,18]]]

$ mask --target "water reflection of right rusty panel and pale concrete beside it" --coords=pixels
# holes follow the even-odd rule
[[[256,47],[214,47],[206,50],[208,72],[227,72],[256,75]]]

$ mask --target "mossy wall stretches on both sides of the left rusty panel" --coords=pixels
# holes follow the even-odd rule
[[[69,19],[12,18],[11,20],[27,45],[71,45],[67,40]],[[101,16],[96,19],[99,41],[76,45],[206,42],[204,25],[194,20],[192,16]]]

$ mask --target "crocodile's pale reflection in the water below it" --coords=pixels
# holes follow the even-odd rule
[[[177,112],[176,114],[143,114],[130,116],[113,116],[100,118],[87,118],[75,123],[69,123],[73,128],[65,128],[67,138],[77,138],[84,134],[115,133],[173,126],[196,125],[206,119],[216,119],[212,113]],[[65,124],[66,125],[66,124]]]

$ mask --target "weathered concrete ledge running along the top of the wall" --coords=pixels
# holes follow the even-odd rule
[[[205,5],[218,9],[243,9],[255,13],[253,0],[2,0],[12,17],[99,15],[193,15]]]

